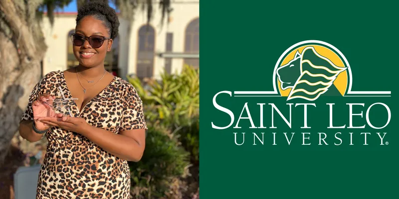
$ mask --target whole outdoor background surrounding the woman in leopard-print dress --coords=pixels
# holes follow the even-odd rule
[[[105,68],[136,88],[149,127],[142,159],[129,162],[131,199],[199,199],[200,2],[101,1],[120,21]],[[35,199],[48,141],[28,142],[18,123],[44,75],[78,65],[71,41],[78,2],[0,0],[1,199]]]

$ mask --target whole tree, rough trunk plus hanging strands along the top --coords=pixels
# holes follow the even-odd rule
[[[89,0],[77,0],[80,7]],[[108,1],[108,0],[102,0]],[[40,66],[47,46],[40,27],[43,10],[51,24],[54,10],[71,0],[0,0],[0,168],[18,129],[26,99],[41,76]],[[151,20],[153,0],[112,0],[121,16],[131,21],[137,9],[147,11]],[[170,0],[161,0],[159,8],[169,14]]]

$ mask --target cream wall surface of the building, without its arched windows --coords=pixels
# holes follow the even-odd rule
[[[173,52],[184,52],[185,30],[187,25],[194,19],[199,18],[200,5],[198,0],[179,0],[172,2],[173,11],[161,27],[161,10],[154,5],[154,15],[150,25],[155,30],[155,56],[153,76],[160,77],[165,66],[165,58],[157,56],[158,53],[165,52],[167,33],[173,33]],[[43,19],[43,32],[48,46],[43,60],[43,75],[55,71],[67,69],[67,42],[71,42],[68,36],[69,31],[75,28],[76,13],[59,13],[51,27],[47,18]],[[119,57],[118,67],[119,76],[124,78],[126,75],[136,74],[137,54],[139,45],[139,29],[147,24],[146,13],[139,12],[135,16],[135,21],[120,18],[119,26]],[[166,23],[169,20],[169,24]],[[183,67],[183,59],[174,58],[172,60],[172,73],[179,73]]]

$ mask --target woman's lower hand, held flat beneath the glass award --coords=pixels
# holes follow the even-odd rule
[[[39,117],[38,120],[45,124],[73,131],[79,134],[82,134],[82,132],[84,132],[87,128],[91,127],[91,125],[88,124],[82,117],[70,117],[64,115],[61,117]]]

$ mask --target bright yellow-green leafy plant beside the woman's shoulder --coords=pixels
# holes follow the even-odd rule
[[[200,72],[185,65],[181,74],[161,74],[161,80],[151,80],[149,89],[138,78],[128,77],[145,104],[146,118],[179,128],[192,122],[199,114]]]

